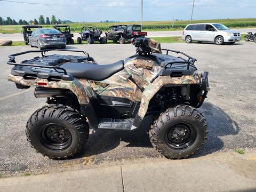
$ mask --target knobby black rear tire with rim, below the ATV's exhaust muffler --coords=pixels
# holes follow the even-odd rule
[[[65,159],[81,152],[89,137],[89,125],[77,110],[49,105],[31,115],[26,135],[39,153],[53,159]]]

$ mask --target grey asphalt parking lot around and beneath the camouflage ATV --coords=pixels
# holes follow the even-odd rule
[[[200,109],[209,125],[208,139],[194,158],[219,150],[256,147],[256,44],[239,42],[234,45],[163,43],[162,48],[185,52],[197,58],[199,70],[209,71],[211,91]],[[138,131],[96,131],[81,155],[66,161],[54,161],[35,152],[26,141],[25,126],[29,116],[44,105],[36,99],[33,89],[18,90],[7,81],[11,66],[7,55],[26,50],[28,46],[0,47],[0,174],[41,172],[115,163],[143,158],[159,158],[151,147],[147,131],[151,118],[145,118]],[[107,64],[135,53],[130,44],[69,45],[90,53],[98,63]],[[20,60],[36,54],[22,55]]]

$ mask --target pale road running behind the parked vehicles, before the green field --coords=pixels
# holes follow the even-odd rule
[[[255,32],[255,28],[245,28],[245,29],[235,29],[239,31],[241,34],[246,34],[248,31]],[[170,36],[181,36],[183,30],[177,31],[148,31],[147,37],[170,37]],[[79,33],[74,33],[74,39],[79,37]],[[20,33],[14,34],[0,34],[0,39],[7,39],[12,41],[23,41],[23,35]]]

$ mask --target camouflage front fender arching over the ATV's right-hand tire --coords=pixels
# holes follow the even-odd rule
[[[198,74],[199,75],[199,74]],[[148,110],[150,100],[163,86],[177,86],[201,83],[201,75],[196,79],[192,75],[184,75],[181,77],[159,76],[155,81],[149,84],[142,93],[139,116],[143,118]]]

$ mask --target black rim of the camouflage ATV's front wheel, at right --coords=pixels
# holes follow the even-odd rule
[[[186,149],[196,140],[194,126],[179,123],[171,126],[165,133],[165,143],[172,149]]]

